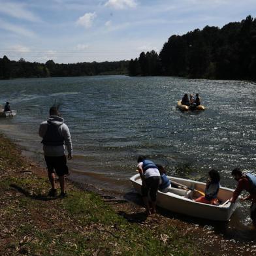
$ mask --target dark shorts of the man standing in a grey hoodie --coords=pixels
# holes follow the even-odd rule
[[[69,168],[67,168],[67,159],[65,155],[61,155],[61,157],[47,157],[45,155],[44,159],[46,161],[49,173],[54,173],[55,170],[57,176],[69,174]]]

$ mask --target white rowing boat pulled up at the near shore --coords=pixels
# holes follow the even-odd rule
[[[206,186],[205,183],[193,180],[170,176],[168,176],[168,179],[199,191],[204,191]],[[130,180],[136,191],[140,193],[142,186],[140,174],[135,174]],[[197,191],[186,191],[185,189],[171,187],[168,189],[167,193],[157,191],[157,206],[170,210],[171,212],[178,212],[179,214],[188,216],[215,221],[228,221],[237,206],[237,202],[232,204],[228,201],[232,197],[233,191],[233,189],[227,187],[220,187],[217,199],[219,199],[221,203],[217,206],[193,201],[191,198],[200,197]]]

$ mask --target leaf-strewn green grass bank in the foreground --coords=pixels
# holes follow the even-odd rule
[[[50,200],[48,180],[17,172],[29,166],[1,136],[0,150],[5,141],[12,153],[2,157],[10,171],[0,180],[0,255],[203,255],[178,227],[157,227],[157,217],[131,223],[72,184],[67,198]]]

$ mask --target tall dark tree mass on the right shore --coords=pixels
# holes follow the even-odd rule
[[[129,75],[256,80],[256,18],[172,35],[159,55],[131,59]]]

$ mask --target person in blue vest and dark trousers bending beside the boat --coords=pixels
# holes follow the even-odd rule
[[[160,182],[160,173],[157,166],[150,160],[146,159],[144,155],[138,157],[138,172],[142,180],[141,193],[146,205],[146,214],[155,214],[155,204],[157,198],[157,189]],[[148,193],[152,202],[152,209],[148,201]]]

